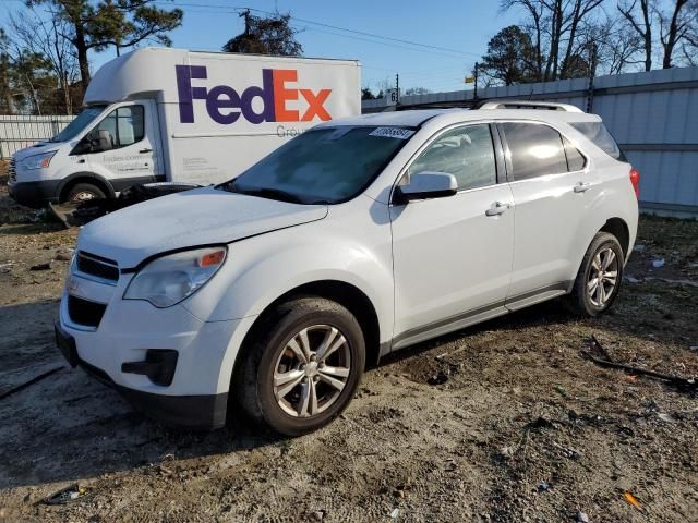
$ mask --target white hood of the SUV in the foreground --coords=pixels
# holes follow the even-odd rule
[[[107,215],[83,228],[77,248],[132,268],[167,251],[230,243],[322,220],[325,205],[300,205],[214,187],[163,196]]]

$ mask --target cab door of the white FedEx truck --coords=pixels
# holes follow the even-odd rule
[[[117,192],[160,179],[153,106],[152,100],[119,105],[89,132],[93,143],[99,144],[86,155],[89,169],[109,180]]]

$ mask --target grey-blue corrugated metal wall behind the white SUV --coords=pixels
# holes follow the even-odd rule
[[[641,207],[676,216],[698,216],[698,68],[600,76],[480,89],[479,98],[551,100],[603,118],[641,173]],[[591,95],[591,96],[590,96]],[[429,107],[472,101],[472,90],[405,96],[402,106]],[[363,112],[385,109],[364,100]]]

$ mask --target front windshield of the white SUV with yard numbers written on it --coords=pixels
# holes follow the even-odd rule
[[[351,125],[306,131],[224,186],[301,204],[345,202],[363,191],[412,134],[406,127]]]

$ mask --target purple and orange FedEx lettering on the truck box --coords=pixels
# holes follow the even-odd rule
[[[289,84],[298,82],[298,71],[292,69],[263,69],[262,87],[252,85],[238,94],[228,85],[192,87],[192,80],[207,77],[204,65],[176,65],[177,92],[179,95],[179,120],[181,123],[194,123],[194,100],[206,100],[206,112],[217,123],[231,124],[242,115],[250,123],[262,122],[310,122],[315,117],[326,121],[332,117],[324,104],[332,89],[298,89]],[[299,99],[308,104],[301,111],[289,109],[288,101]],[[254,98],[262,100],[262,110],[255,112]]]

